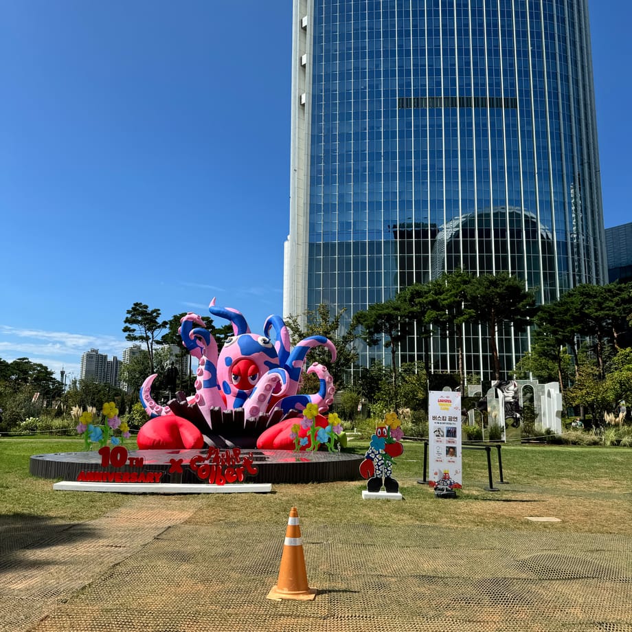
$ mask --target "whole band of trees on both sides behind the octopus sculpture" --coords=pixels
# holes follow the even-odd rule
[[[632,401],[632,284],[580,285],[559,300],[538,306],[533,291],[507,273],[475,276],[464,271],[442,275],[426,284],[411,285],[394,298],[357,312],[350,326],[341,326],[345,311],[331,314],[326,304],[302,315],[286,317],[295,344],[310,335],[324,335],[337,348],[332,362],[324,348],[309,352],[311,362],[328,367],[338,390],[360,397],[378,408],[413,410],[425,408],[429,367],[424,361],[399,365],[398,350],[411,331],[427,339],[436,330],[451,340],[458,357],[456,384],[465,392],[468,376],[463,370],[464,325],[480,325],[489,348],[490,365],[501,379],[496,346],[499,328],[510,324],[516,332],[532,327],[531,351],[508,371],[516,379],[532,376],[541,382],[558,381],[565,405],[585,407],[594,420],[617,409],[622,400]],[[140,385],[157,373],[157,390],[172,358],[170,345],[179,349],[179,359],[188,358],[178,333],[185,313],[162,319],[161,312],[135,302],[126,311],[122,328],[126,339],[141,343],[143,350],[121,367],[121,379],[131,395],[91,380],[74,380],[64,392],[63,383],[45,365],[19,358],[0,359],[0,432],[17,427],[25,419],[42,414],[63,416],[70,407],[95,406],[115,401],[121,414],[137,403]],[[232,335],[229,324],[216,327],[210,317],[205,326],[221,348]],[[390,367],[357,364],[357,341],[369,346],[383,343],[390,350]],[[353,370],[352,370],[353,368]],[[446,376],[447,378],[449,376]],[[314,376],[305,376],[304,392],[315,392]],[[178,390],[192,394],[194,376],[183,372]],[[165,396],[168,394],[164,394]],[[350,412],[351,414],[351,412]]]

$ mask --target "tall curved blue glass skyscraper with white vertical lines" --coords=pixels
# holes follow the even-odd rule
[[[294,0],[284,313],[461,268],[607,282],[587,0]],[[529,335],[498,334],[505,371]],[[466,372],[490,376],[484,332]],[[415,332],[402,361],[421,359]],[[379,348],[362,350],[389,361]],[[434,336],[431,370],[456,368]]]

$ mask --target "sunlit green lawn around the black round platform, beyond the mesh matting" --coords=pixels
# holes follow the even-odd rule
[[[363,453],[366,441],[351,442]],[[33,454],[80,451],[75,438],[0,439],[0,515],[37,515],[51,520],[84,521],[129,501],[126,494],[58,492],[52,480],[29,474]],[[404,500],[363,501],[362,481],[274,485],[271,494],[218,494],[192,497],[200,519],[248,516],[254,521],[287,518],[295,505],[302,517],[320,523],[430,524],[495,529],[568,530],[629,533],[632,523],[632,449],[506,444],[504,479],[498,484],[496,450],[492,451],[497,492],[488,485],[484,451],[464,450],[463,483],[457,499],[437,499],[422,478],[423,447],[405,442],[395,476]],[[165,499],[168,504],[168,498]],[[560,523],[533,523],[528,516],[557,517]]]

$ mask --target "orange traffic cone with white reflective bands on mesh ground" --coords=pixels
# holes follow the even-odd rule
[[[295,507],[290,510],[285,532],[285,545],[281,556],[279,578],[275,586],[268,593],[268,599],[313,599],[316,589],[307,585],[305,557],[303,555],[303,541],[301,528],[298,523],[298,511]]]

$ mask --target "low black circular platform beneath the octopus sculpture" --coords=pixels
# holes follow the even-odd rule
[[[29,471],[34,476],[66,481],[76,481],[82,472],[162,472],[161,483],[199,484],[204,481],[191,469],[190,460],[206,453],[206,450],[129,451],[129,460],[142,458],[142,469],[129,464],[119,468],[103,467],[101,456],[96,452],[36,454],[30,458]],[[359,466],[364,459],[363,455],[328,451],[244,450],[241,456],[247,457],[250,453],[258,473],[247,477],[245,482],[249,483],[317,483],[358,480],[361,479]],[[175,469],[181,468],[181,471],[174,471],[172,460],[179,462],[179,467]]]

